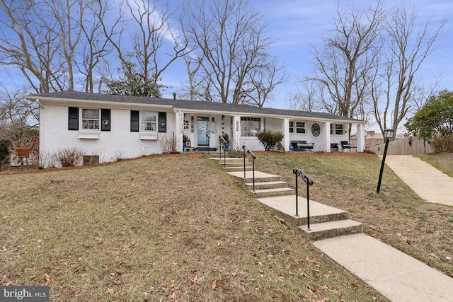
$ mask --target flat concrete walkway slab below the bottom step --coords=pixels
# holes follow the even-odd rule
[[[391,301],[453,301],[453,279],[365,234],[313,243]]]

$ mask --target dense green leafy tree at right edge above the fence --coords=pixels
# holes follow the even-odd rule
[[[428,141],[453,135],[453,92],[441,91],[433,95],[406,124],[408,132]]]

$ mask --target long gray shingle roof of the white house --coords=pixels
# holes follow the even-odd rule
[[[128,95],[108,95],[101,93],[84,93],[77,91],[59,91],[52,93],[42,93],[28,95],[26,98],[34,100],[35,98],[56,98],[65,100],[96,100],[117,103],[139,103],[149,105],[168,105],[176,110],[209,110],[214,112],[236,112],[241,114],[258,114],[258,115],[280,115],[290,117],[308,117],[320,120],[342,120],[345,122],[365,122],[362,120],[352,119],[350,117],[341,117],[326,112],[307,112],[299,110],[286,110],[277,108],[258,108],[251,105],[235,105],[226,103],[200,102],[195,100],[173,100],[171,98],[147,98]]]

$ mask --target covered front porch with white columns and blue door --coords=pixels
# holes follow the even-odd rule
[[[316,118],[282,117],[270,115],[231,114],[231,112],[177,112],[181,126],[180,151],[218,151],[226,139],[227,148],[239,150],[247,146],[253,151],[263,151],[264,147],[256,137],[263,129],[284,134],[282,146],[285,151],[292,149],[294,141],[311,144],[312,151],[349,151],[343,143],[350,142],[350,124],[357,136],[357,152],[365,149],[364,121],[322,120]],[[183,134],[188,139],[183,145]],[[183,146],[186,148],[183,149]],[[343,148],[342,148],[343,146]],[[190,149],[188,149],[188,147]]]

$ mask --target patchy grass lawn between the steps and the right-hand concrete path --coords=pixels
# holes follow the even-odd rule
[[[448,156],[430,155],[442,165]],[[283,175],[294,187],[292,169],[302,168],[315,184],[310,199],[349,212],[364,223],[365,232],[453,277],[453,209],[423,202],[386,167],[380,194],[376,193],[381,159],[359,153],[258,153],[256,167]],[[453,165],[442,165],[453,175]],[[305,187],[299,187],[304,194]]]

